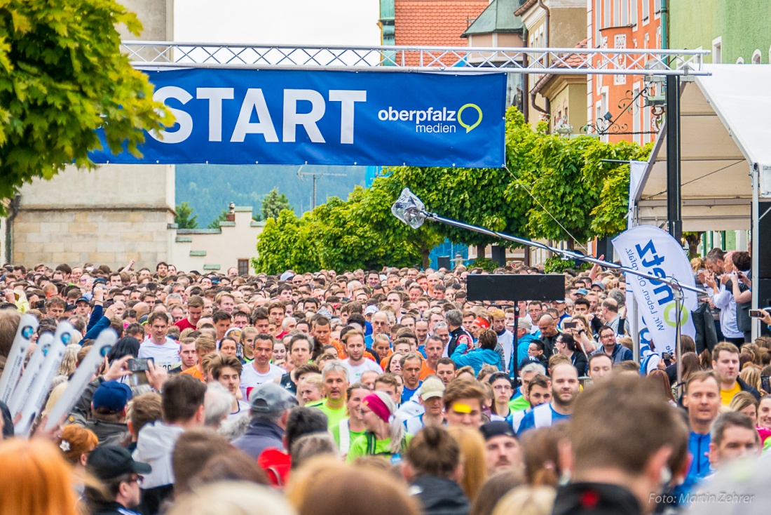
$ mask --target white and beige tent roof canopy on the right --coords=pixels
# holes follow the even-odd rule
[[[685,83],[680,102],[683,230],[749,229],[750,167],[771,164],[771,66],[704,69],[712,75]],[[667,220],[666,138],[663,127],[638,198],[641,224]]]

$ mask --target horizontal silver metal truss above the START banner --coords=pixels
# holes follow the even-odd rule
[[[561,75],[707,75],[705,50],[221,45],[126,41],[133,66]]]

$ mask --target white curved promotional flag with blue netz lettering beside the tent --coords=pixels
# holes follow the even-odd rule
[[[658,227],[638,225],[614,238],[613,246],[621,264],[628,268],[651,276],[674,278],[685,286],[696,286],[691,264],[682,247],[668,232]],[[639,314],[655,344],[656,353],[674,352],[677,315],[672,288],[660,281],[631,273],[627,274],[626,280],[628,285],[631,284]],[[691,311],[699,306],[699,302],[695,292],[683,292],[685,299],[680,312],[680,331],[695,337]]]

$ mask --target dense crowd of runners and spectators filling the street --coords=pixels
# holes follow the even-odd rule
[[[749,341],[749,255],[692,264],[717,336],[637,360],[625,276],[599,266],[516,305],[470,300],[485,272],[463,266],[5,266],[0,370],[22,313],[33,341],[65,320],[80,338],[32,438],[0,403],[0,512],[701,513],[732,484],[726,503],[759,513],[763,489],[741,486],[768,463],[771,337]],[[108,328],[93,380],[46,424]]]

